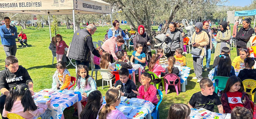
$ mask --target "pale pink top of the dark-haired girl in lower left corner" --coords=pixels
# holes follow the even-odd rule
[[[29,110],[29,111],[23,112],[24,108],[21,104],[21,101],[15,101],[13,103],[13,107],[11,108],[10,112],[6,111],[5,108],[3,108],[3,117],[7,117],[8,113],[15,113],[22,116],[25,119],[33,119],[34,117],[44,114],[45,110],[47,109],[47,105],[38,105],[38,106],[39,106],[39,109],[35,111]]]

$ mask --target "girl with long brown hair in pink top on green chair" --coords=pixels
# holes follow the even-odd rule
[[[158,77],[163,77],[164,74],[161,76],[161,72],[165,72],[165,69],[159,64],[160,55],[153,54],[151,61],[149,63],[149,71],[154,72]]]

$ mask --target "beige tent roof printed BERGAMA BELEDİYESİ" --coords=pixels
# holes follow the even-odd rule
[[[111,5],[102,0],[3,0],[0,12],[25,14],[101,14],[111,13]]]

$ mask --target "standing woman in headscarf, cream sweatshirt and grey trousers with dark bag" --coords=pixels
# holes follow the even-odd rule
[[[194,34],[192,35],[192,44],[193,47],[197,47],[202,49],[201,54],[199,56],[192,55],[193,57],[193,66],[194,66],[194,73],[196,74],[196,77],[193,77],[193,79],[198,79],[197,82],[200,82],[202,77],[202,60],[204,55],[206,54],[206,45],[209,44],[209,37],[208,34],[203,31],[203,23],[198,22],[195,24],[194,29],[196,30]]]

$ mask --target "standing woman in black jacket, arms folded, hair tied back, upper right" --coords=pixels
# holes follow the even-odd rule
[[[253,28],[251,27],[251,18],[243,20],[243,27],[238,31],[235,39],[237,39],[237,56],[239,56],[239,48],[246,48],[246,44],[252,34],[254,33]]]

